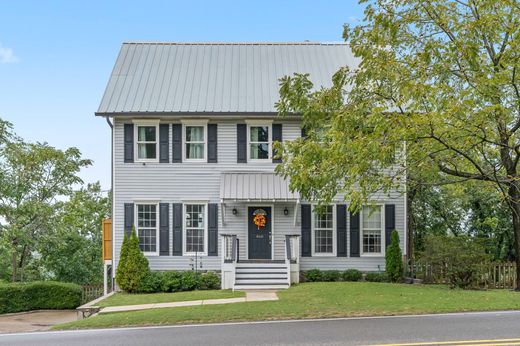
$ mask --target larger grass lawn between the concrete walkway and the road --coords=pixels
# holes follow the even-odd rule
[[[98,315],[55,329],[180,323],[424,314],[520,309],[520,293],[369,282],[305,283],[279,291],[279,301],[164,308]]]

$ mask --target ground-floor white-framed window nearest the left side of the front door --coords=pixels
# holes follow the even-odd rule
[[[184,254],[205,255],[207,244],[207,204],[184,204]]]

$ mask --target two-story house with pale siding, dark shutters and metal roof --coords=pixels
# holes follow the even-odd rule
[[[326,87],[357,63],[344,43],[124,43],[96,112],[112,126],[113,267],[135,226],[152,270],[217,271],[223,288],[384,270],[393,229],[406,249],[404,195],[315,213],[274,174],[273,142],[302,135],[277,116],[279,78]]]

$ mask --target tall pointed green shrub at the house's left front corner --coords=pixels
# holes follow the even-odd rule
[[[135,233],[135,227],[133,227],[130,239],[126,244],[123,239],[116,282],[123,291],[138,292],[143,279],[149,272],[148,260],[139,249],[139,239]]]

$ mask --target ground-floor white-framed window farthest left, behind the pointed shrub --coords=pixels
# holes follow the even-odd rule
[[[156,203],[136,204],[136,231],[139,238],[139,248],[144,254],[159,253],[159,219]]]

